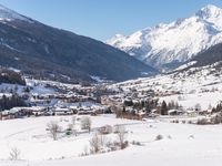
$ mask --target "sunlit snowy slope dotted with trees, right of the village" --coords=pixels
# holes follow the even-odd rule
[[[131,80],[112,84],[108,89],[112,91],[123,91],[131,93],[147,92],[153,90],[155,97],[167,103],[178,102],[183,110],[194,110],[200,104],[203,110],[208,110],[209,105],[216,106],[222,101],[222,62],[211,65],[195,68],[191,62],[182,65],[171,74],[158,75],[154,77]],[[188,68],[188,70],[184,70]]]

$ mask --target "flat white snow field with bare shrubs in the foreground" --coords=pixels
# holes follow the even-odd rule
[[[93,116],[92,128],[105,124],[125,124],[127,139],[137,141],[123,151],[80,157],[89,145],[91,134],[61,137],[52,141],[46,131],[50,121],[65,127],[71,116],[33,117],[0,122],[1,166],[220,166],[222,157],[222,125],[198,126],[173,124],[167,118],[148,122],[117,120],[112,115]],[[163,139],[155,141],[157,135]],[[114,134],[108,135],[115,139]],[[9,160],[11,148],[21,152],[21,160]]]

